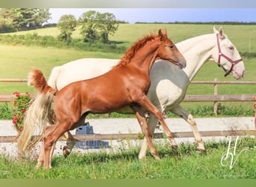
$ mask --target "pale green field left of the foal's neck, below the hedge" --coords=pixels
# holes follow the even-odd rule
[[[20,79],[26,79],[32,67],[42,70],[45,76],[48,77],[53,67],[79,58],[120,58],[120,55],[112,53],[1,44],[0,56],[0,78]],[[25,83],[0,84],[0,93],[13,93],[16,91],[34,93]]]

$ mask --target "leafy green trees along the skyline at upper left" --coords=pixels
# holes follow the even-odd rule
[[[51,19],[51,13],[45,8],[2,8],[0,9],[0,33],[41,28],[49,19]],[[113,13],[90,10],[82,13],[78,20],[73,15],[64,15],[57,24],[61,31],[58,38],[70,43],[73,31],[79,27],[84,42],[108,43],[109,34],[114,34],[118,30],[118,25],[119,22]]]

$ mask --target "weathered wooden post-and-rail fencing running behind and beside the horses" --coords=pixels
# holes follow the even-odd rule
[[[27,79],[0,79],[0,82],[27,82]],[[255,128],[256,128],[256,95],[255,94],[236,94],[236,95],[219,95],[218,85],[256,85],[256,82],[221,82],[221,81],[193,81],[191,84],[211,84],[213,85],[213,95],[186,95],[184,102],[213,102],[214,112],[216,113],[217,102],[255,102]],[[12,102],[13,94],[0,94],[0,102]],[[256,135],[254,130],[231,130],[231,131],[207,131],[200,132],[203,137],[213,136],[232,136],[232,135]],[[121,139],[138,139],[138,134],[106,134],[106,135],[74,135],[80,141],[97,141],[97,140],[121,140]],[[163,138],[162,133],[155,133],[154,138]],[[174,138],[192,138],[192,132],[174,132]],[[0,143],[14,142],[16,136],[0,136]]]

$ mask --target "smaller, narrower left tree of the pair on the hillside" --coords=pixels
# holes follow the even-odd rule
[[[61,19],[58,21],[58,28],[61,30],[59,35],[61,39],[66,40],[67,43],[71,41],[71,35],[73,31],[76,30],[76,18],[73,15],[64,15],[61,16]]]

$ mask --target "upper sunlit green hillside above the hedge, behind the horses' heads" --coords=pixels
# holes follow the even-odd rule
[[[175,43],[186,40],[190,37],[195,37],[201,34],[210,34],[213,32],[213,26],[217,29],[222,25],[209,25],[209,24],[120,24],[118,31],[109,39],[119,43],[120,46],[129,47],[131,43],[138,40],[139,37],[144,36],[149,32],[156,32],[159,28],[168,31],[168,37]],[[237,46],[240,52],[256,52],[256,25],[223,25],[225,33]],[[79,38],[79,28],[73,32],[73,38]],[[40,28],[31,31],[20,31],[8,34],[33,34],[37,33],[40,36],[53,36],[57,37],[60,33],[58,28]],[[251,44],[249,44],[251,41]]]

